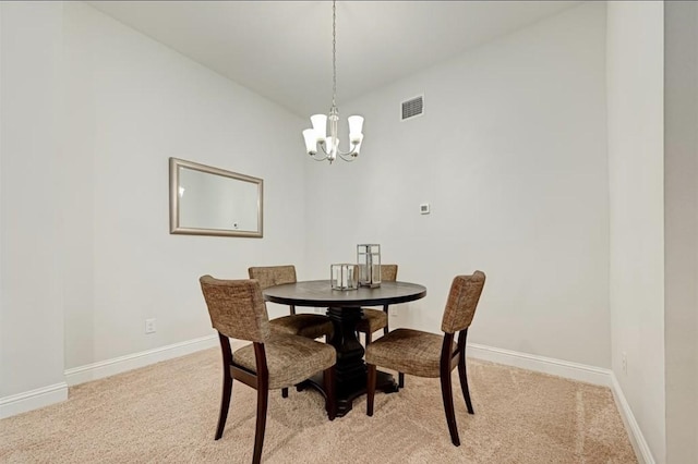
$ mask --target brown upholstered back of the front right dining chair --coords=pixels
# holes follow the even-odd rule
[[[474,271],[472,276],[456,276],[454,278],[441,330],[446,333],[455,333],[470,327],[483,286],[484,272],[482,271]]]

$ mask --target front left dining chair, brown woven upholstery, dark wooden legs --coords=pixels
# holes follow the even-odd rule
[[[222,396],[215,439],[222,436],[226,426],[233,380],[257,391],[253,464],[262,459],[269,390],[288,388],[323,371],[325,410],[329,420],[334,420],[337,414],[335,349],[305,337],[272,330],[256,280],[219,280],[203,276],[198,281],[222,353]],[[232,353],[230,339],[252,343]]]

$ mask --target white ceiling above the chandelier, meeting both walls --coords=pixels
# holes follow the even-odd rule
[[[329,1],[87,3],[296,114],[329,109]],[[337,2],[337,105],[578,3]]]

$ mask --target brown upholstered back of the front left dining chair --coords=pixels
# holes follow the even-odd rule
[[[269,316],[256,280],[198,279],[210,323],[221,334],[263,343],[269,337]]]

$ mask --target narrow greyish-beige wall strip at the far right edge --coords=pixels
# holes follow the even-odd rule
[[[698,5],[664,3],[666,462],[698,462]]]

